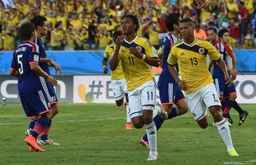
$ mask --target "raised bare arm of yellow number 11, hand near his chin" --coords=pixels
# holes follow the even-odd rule
[[[115,50],[114,50],[114,54],[110,60],[110,68],[111,68],[111,71],[114,71],[116,70],[118,64],[119,64],[119,58],[118,58],[118,54],[119,54],[119,50],[121,48],[121,42],[125,40],[125,37],[120,35],[120,36],[117,36],[116,38],[116,47],[115,47]]]

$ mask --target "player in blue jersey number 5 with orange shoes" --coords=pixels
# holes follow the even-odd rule
[[[44,90],[41,78],[57,85],[57,80],[40,68],[39,47],[36,42],[35,26],[29,22],[21,25],[18,36],[22,43],[13,53],[10,74],[18,78],[18,92],[21,104],[28,118],[36,118],[36,124],[31,134],[24,139],[30,146],[29,151],[45,151],[36,144],[36,138],[50,125],[52,118],[50,98]]]

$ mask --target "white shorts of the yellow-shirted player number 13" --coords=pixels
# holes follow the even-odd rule
[[[195,120],[204,118],[210,106],[221,106],[216,87],[213,83],[188,94],[186,100]]]

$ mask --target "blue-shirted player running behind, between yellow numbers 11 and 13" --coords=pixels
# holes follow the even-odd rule
[[[171,13],[165,19],[165,25],[168,27],[168,35],[164,38],[164,45],[161,47],[163,53],[159,53],[160,65],[163,68],[162,73],[159,76],[159,95],[162,106],[160,114],[154,116],[154,123],[159,130],[164,120],[172,119],[178,115],[187,113],[188,107],[185,101],[182,90],[178,87],[173,77],[168,70],[168,54],[172,46],[179,40],[179,27],[178,22],[181,20],[179,13]],[[178,65],[176,65],[178,69]],[[178,107],[173,107],[175,104]],[[140,144],[148,147],[147,134],[140,139]]]

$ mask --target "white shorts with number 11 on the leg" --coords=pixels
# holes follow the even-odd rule
[[[143,110],[154,110],[156,84],[153,80],[128,92],[130,119],[143,115]]]

